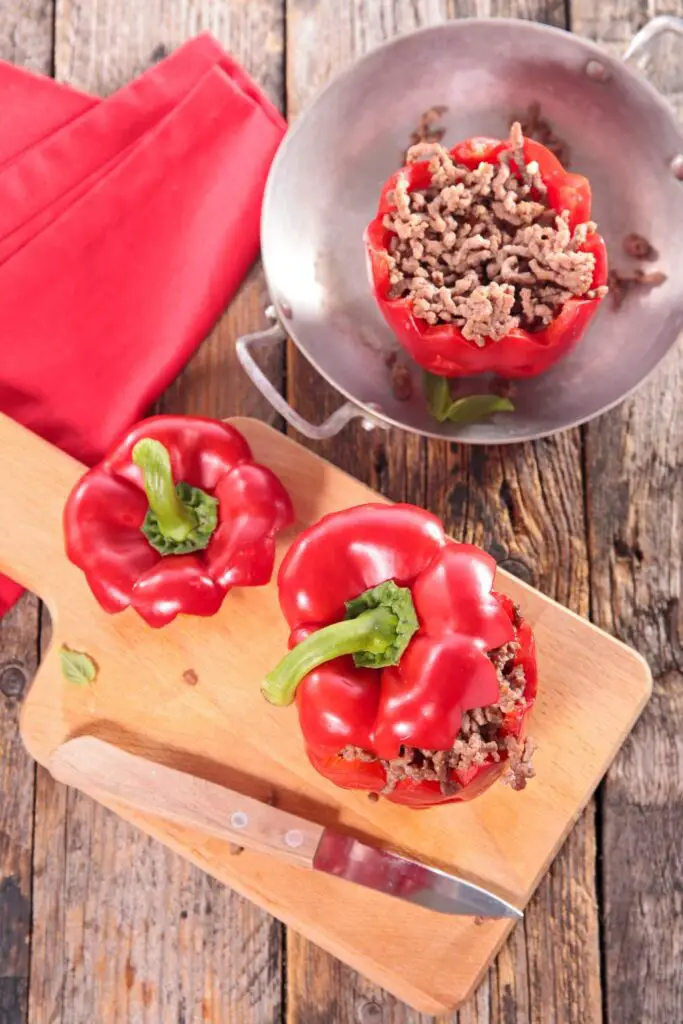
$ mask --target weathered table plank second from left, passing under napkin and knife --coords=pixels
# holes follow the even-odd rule
[[[57,0],[55,74],[108,93],[209,29],[283,101],[283,4]],[[227,416],[269,412],[233,340],[263,323],[254,268],[229,312],[161,402]],[[271,360],[282,375],[282,355]],[[44,772],[36,796],[32,1024],[271,1024],[281,1016],[282,928],[182,859]]]

